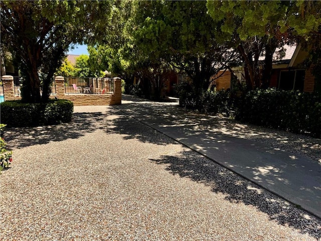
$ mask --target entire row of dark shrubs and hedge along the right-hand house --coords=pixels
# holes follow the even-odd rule
[[[189,109],[233,115],[241,122],[321,137],[319,94],[269,88],[231,99],[223,90],[199,94],[188,83],[178,86],[178,90],[180,105]]]

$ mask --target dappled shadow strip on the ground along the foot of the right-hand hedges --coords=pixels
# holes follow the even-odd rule
[[[319,139],[282,130],[275,131],[267,127],[244,124],[235,119],[219,115],[200,113],[197,110],[180,107],[177,102],[154,102],[123,95],[123,104],[119,108],[142,122],[155,123],[159,127],[176,126],[195,132],[200,130],[211,131],[217,134],[220,133],[268,144],[273,148],[279,148],[299,156],[311,158],[316,162],[321,160]],[[288,145],[289,143],[292,145]],[[292,147],[293,145],[295,145],[295,148]]]

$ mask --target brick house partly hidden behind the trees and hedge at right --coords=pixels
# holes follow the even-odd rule
[[[302,92],[313,92],[314,76],[310,69],[302,67],[302,63],[308,53],[297,46],[284,46],[285,56],[277,58],[277,54],[273,55],[272,73],[270,79],[270,87],[275,87],[284,90],[299,90]],[[260,59],[260,60],[263,60]],[[217,90],[233,88],[234,80],[241,83],[244,82],[244,74],[241,68],[229,70],[221,70],[218,74],[211,77],[213,84]]]

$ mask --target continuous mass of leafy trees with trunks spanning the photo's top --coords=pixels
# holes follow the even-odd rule
[[[206,89],[211,75],[240,63],[253,89],[268,86],[273,53],[285,43],[300,41],[310,64],[320,62],[320,9],[318,1],[1,1],[1,47],[26,76],[25,101],[49,98],[76,43],[89,45],[91,73],[83,74],[136,75],[156,95],[170,69]]]

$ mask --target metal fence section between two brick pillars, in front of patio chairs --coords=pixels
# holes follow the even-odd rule
[[[111,78],[65,77],[66,94],[105,94],[114,93]]]

